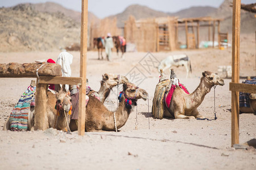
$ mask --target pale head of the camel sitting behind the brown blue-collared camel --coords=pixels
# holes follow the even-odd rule
[[[129,83],[129,80],[126,76],[116,75],[116,74],[103,74],[101,84],[104,83],[106,88],[112,89],[117,84],[126,84]]]

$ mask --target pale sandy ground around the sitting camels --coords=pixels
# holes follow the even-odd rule
[[[254,37],[241,37],[241,76],[256,75]],[[70,53],[74,57],[72,76],[79,76],[80,53]],[[254,149],[235,150],[231,147],[231,79],[225,79],[225,86],[216,87],[217,120],[152,118],[152,99],[159,77],[155,66],[170,54],[183,53],[191,58],[191,77],[185,78],[184,67],[174,67],[174,70],[190,92],[199,85],[203,71],[217,72],[219,65],[232,63],[232,49],[126,53],[125,60],[114,53],[112,62],[106,59],[98,61],[97,52],[88,52],[87,77],[90,87],[98,90],[104,73],[125,75],[148,92],[149,107],[148,101],[139,100],[138,108],[134,108],[126,125],[118,133],[85,133],[79,136],[77,132],[67,134],[55,129],[27,132],[0,130],[0,169],[256,169]],[[0,63],[25,63],[48,58],[56,60],[58,54],[0,53]],[[168,70],[166,75],[169,75]],[[31,78],[1,79],[1,129],[30,81]],[[113,89],[105,105],[112,110],[116,108],[117,88]],[[199,112],[207,118],[214,118],[213,89],[205,96]],[[240,143],[256,138],[255,120],[254,114],[240,114]]]

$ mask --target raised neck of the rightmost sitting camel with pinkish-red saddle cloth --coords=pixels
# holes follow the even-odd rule
[[[191,103],[190,107],[199,107],[199,105],[203,102],[205,95],[210,92],[212,87],[213,86],[209,85],[204,77],[201,78],[199,86],[188,97],[189,103]]]

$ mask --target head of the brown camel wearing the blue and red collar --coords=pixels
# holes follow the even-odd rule
[[[123,84],[123,93],[127,99],[143,99],[147,100],[147,92],[142,88],[135,86],[133,83]]]

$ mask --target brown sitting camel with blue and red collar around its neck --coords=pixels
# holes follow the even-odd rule
[[[85,131],[113,131],[115,130],[115,122],[117,129],[125,125],[130,113],[138,99],[147,99],[147,92],[142,88],[138,88],[133,83],[123,84],[121,101],[115,112],[110,112],[95,97],[89,96],[86,106]],[[131,100],[131,105],[126,104],[126,99]],[[115,115],[115,121],[114,121]],[[77,129],[73,129],[77,130]]]

